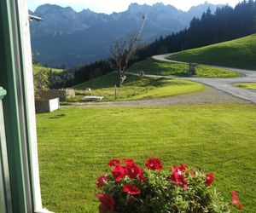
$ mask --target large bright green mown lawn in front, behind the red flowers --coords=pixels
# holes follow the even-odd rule
[[[214,172],[227,201],[236,190],[245,212],[256,212],[256,107],[62,108],[40,114],[38,154],[44,207],[97,212],[96,177],[110,158],[159,157]],[[236,212],[232,209],[232,212]]]

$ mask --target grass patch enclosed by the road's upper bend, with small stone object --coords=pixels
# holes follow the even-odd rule
[[[137,62],[127,72],[139,73],[142,70],[145,74],[186,76],[189,65],[148,58],[147,60]],[[196,66],[196,72],[197,74],[193,77],[230,78],[241,76],[239,72],[202,65]]]

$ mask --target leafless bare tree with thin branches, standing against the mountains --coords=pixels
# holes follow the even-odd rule
[[[145,25],[147,15],[143,15],[143,23],[138,32],[131,32],[126,37],[121,37],[119,40],[113,43],[111,47],[111,55],[113,63],[118,72],[117,87],[120,87],[125,81],[125,69],[128,66],[128,62],[133,55],[136,54],[137,49],[141,45],[141,36],[143,27]]]

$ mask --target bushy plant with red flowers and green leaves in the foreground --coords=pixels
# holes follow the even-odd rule
[[[100,212],[230,212],[230,205],[243,209],[235,191],[225,202],[212,187],[215,176],[186,164],[162,170],[159,158],[146,160],[141,168],[133,159],[112,159],[111,174],[99,176],[96,197]]]

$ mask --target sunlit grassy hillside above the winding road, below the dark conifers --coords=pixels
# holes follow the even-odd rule
[[[230,66],[256,70],[256,34],[230,42],[216,43],[199,49],[189,49],[169,56],[169,59],[208,65]]]

